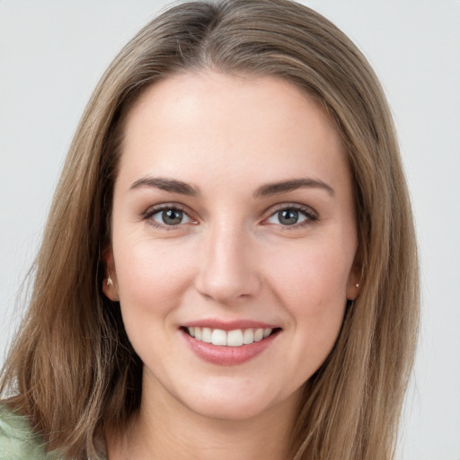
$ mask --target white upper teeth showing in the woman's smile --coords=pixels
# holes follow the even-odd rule
[[[197,341],[204,341],[218,346],[241,347],[250,345],[254,341],[261,341],[267,338],[273,331],[266,329],[234,329],[234,331],[223,331],[222,329],[211,329],[208,327],[187,328],[191,337]]]

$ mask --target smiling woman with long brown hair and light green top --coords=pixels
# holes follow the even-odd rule
[[[411,208],[365,58],[285,0],[181,4],[115,58],[77,129],[0,446],[389,459],[417,319]]]

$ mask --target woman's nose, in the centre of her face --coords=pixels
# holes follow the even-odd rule
[[[251,234],[237,226],[216,226],[204,237],[195,286],[202,296],[230,305],[258,294],[257,265]]]

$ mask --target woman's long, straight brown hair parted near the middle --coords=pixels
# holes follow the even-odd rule
[[[88,103],[53,201],[28,313],[1,391],[62,456],[137,410],[142,363],[119,305],[102,294],[123,120],[147,86],[190,69],[274,75],[328,111],[355,187],[361,290],[340,337],[305,384],[289,458],[388,460],[413,361],[418,265],[411,206],[385,95],[331,22],[288,0],[174,6],[139,31]]]

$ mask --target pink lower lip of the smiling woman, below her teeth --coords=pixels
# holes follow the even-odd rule
[[[249,345],[242,345],[241,347],[213,345],[212,343],[197,341],[187,332],[181,331],[181,334],[187,345],[199,358],[219,366],[236,366],[255,358],[262,351],[268,349],[279,335],[279,332],[274,332],[266,339],[254,341]]]

